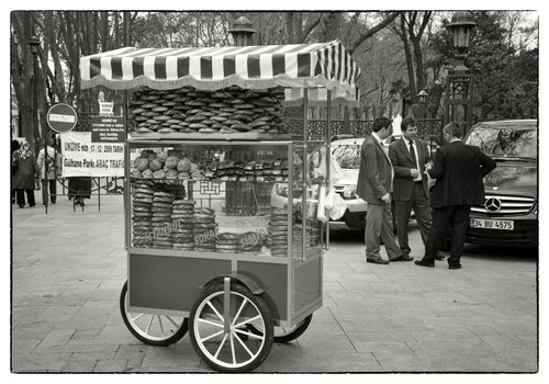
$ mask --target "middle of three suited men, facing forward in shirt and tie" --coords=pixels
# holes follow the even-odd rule
[[[406,117],[401,123],[402,137],[389,146],[389,158],[394,168],[393,199],[396,211],[399,246],[406,260],[410,257],[408,221],[414,208],[424,246],[430,227],[430,205],[427,176],[423,173],[430,160],[427,143],[417,138],[417,122]]]

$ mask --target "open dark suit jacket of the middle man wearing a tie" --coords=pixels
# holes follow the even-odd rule
[[[419,167],[419,172],[422,172],[423,188],[425,195],[428,196],[427,176],[423,171],[425,170],[425,165],[430,159],[429,148],[427,143],[422,139],[416,139],[415,146],[417,148],[417,158],[419,161],[417,166]],[[389,158],[394,168],[393,199],[395,201],[408,201],[412,199],[412,191],[414,190],[414,178],[410,174],[410,170],[415,168],[415,166],[404,138],[400,138],[389,146]]]

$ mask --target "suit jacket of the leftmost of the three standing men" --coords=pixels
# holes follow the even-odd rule
[[[381,196],[391,193],[393,167],[378,140],[370,134],[360,148],[357,194],[370,204],[383,204]]]

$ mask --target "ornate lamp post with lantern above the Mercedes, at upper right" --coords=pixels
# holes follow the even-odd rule
[[[469,52],[471,30],[475,25],[469,11],[455,12],[447,25],[452,34],[452,45],[458,52],[458,63],[448,71],[444,125],[451,121],[462,122],[463,134],[472,124],[472,74],[466,67],[464,60]]]

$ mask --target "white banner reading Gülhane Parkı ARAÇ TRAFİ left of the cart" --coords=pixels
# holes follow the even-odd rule
[[[122,143],[92,143],[91,132],[69,132],[60,136],[64,178],[124,176]]]

